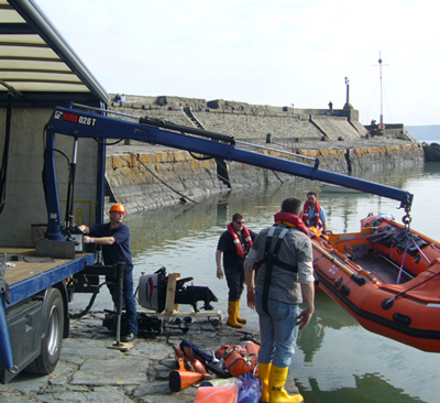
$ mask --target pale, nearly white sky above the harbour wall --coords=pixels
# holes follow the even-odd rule
[[[431,0],[36,3],[111,94],[342,109],[346,77],[363,124],[440,124]]]

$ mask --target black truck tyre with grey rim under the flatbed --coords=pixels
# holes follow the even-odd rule
[[[58,288],[48,290],[43,319],[44,335],[41,355],[28,366],[26,372],[48,374],[58,363],[64,328],[64,303]]]

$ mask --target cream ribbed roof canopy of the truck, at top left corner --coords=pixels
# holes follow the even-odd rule
[[[109,101],[34,0],[0,0],[0,105],[11,89],[22,94],[15,105]]]

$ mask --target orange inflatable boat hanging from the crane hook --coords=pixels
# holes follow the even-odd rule
[[[319,287],[365,329],[440,352],[440,244],[385,217],[361,225],[329,237],[312,229]]]

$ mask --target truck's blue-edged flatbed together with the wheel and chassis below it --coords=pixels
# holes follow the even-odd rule
[[[45,261],[35,255],[35,249],[0,248],[0,255],[13,265],[4,273],[9,292],[4,308],[0,307],[6,309],[8,323],[8,333],[1,333],[0,381],[9,382],[24,368],[51,373],[59,358],[62,339],[69,335],[68,279],[94,264],[95,253]]]

